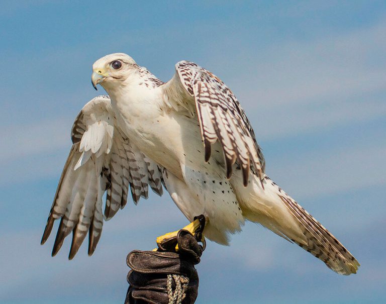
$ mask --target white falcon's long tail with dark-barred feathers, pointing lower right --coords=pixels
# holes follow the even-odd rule
[[[259,187],[252,196],[252,202],[243,206],[248,220],[298,244],[337,273],[356,273],[360,264],[352,254],[268,176],[264,177],[264,190]]]

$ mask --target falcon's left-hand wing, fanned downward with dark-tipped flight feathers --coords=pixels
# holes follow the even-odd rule
[[[53,223],[60,219],[52,255],[72,232],[69,259],[72,259],[87,232],[88,254],[98,243],[104,219],[110,220],[125,207],[129,187],[137,204],[148,197],[148,185],[162,195],[162,174],[124,136],[116,125],[108,96],[90,100],[76,117],[71,132],[72,147],[56,190],[41,244],[49,237]],[[104,215],[102,199],[106,195]]]

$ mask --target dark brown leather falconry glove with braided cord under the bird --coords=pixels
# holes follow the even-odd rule
[[[162,243],[158,251],[130,252],[127,265],[132,270],[127,275],[130,286],[125,304],[194,303],[199,288],[194,265],[200,263],[202,253],[203,246],[186,230]]]

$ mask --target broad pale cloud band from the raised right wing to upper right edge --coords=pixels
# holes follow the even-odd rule
[[[346,34],[284,43],[244,62],[223,58],[231,71],[225,77],[257,137],[272,140],[384,116],[386,60],[379,54],[386,52],[385,28],[382,21]]]

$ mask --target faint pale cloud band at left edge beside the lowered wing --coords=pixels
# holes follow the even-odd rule
[[[0,185],[60,174],[71,147],[72,118],[7,126],[0,131]]]

